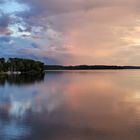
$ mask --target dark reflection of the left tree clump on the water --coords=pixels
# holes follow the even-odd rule
[[[44,74],[21,74],[21,75],[0,75],[0,85],[8,84],[32,84],[44,80]]]

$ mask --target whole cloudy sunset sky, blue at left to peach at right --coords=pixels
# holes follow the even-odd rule
[[[140,65],[140,1],[0,0],[0,57]]]

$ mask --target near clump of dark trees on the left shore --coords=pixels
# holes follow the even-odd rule
[[[43,72],[44,63],[31,59],[0,58],[0,72]]]

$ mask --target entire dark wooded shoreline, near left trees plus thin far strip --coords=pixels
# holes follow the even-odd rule
[[[140,69],[140,66],[117,66],[117,65],[48,65],[41,61],[23,58],[0,58],[0,74],[41,74],[44,71],[54,70],[125,70]]]

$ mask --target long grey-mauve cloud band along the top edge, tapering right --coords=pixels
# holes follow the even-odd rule
[[[111,6],[130,6],[139,7],[138,0],[17,0],[18,2],[27,4],[30,11],[23,14],[25,17],[46,13],[47,15],[57,15],[66,12],[86,11],[98,7]]]

